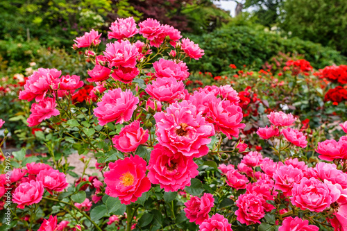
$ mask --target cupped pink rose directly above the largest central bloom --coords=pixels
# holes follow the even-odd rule
[[[158,101],[173,103],[182,99],[184,89],[185,85],[182,81],[177,81],[174,77],[164,77],[157,78],[152,84],[148,84],[146,92]]]

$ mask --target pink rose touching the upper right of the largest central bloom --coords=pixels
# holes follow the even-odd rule
[[[208,102],[208,117],[217,131],[223,132],[229,139],[239,136],[239,129],[246,125],[241,123],[243,114],[242,108],[230,103],[214,98]]]

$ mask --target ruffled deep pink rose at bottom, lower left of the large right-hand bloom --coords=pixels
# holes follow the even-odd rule
[[[246,225],[261,223],[265,216],[264,199],[254,194],[242,194],[237,198],[236,205],[239,209],[235,212],[237,221]]]

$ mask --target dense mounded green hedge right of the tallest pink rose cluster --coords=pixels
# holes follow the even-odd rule
[[[280,51],[303,54],[315,68],[323,68],[333,63],[339,65],[347,60],[338,51],[320,44],[298,38],[285,39],[251,26],[224,26],[212,33],[189,37],[205,50],[203,58],[190,62],[189,67],[192,71],[219,74],[228,71],[230,63],[258,68]]]

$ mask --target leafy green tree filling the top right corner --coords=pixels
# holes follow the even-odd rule
[[[281,27],[291,36],[335,47],[347,55],[346,0],[287,0]]]

